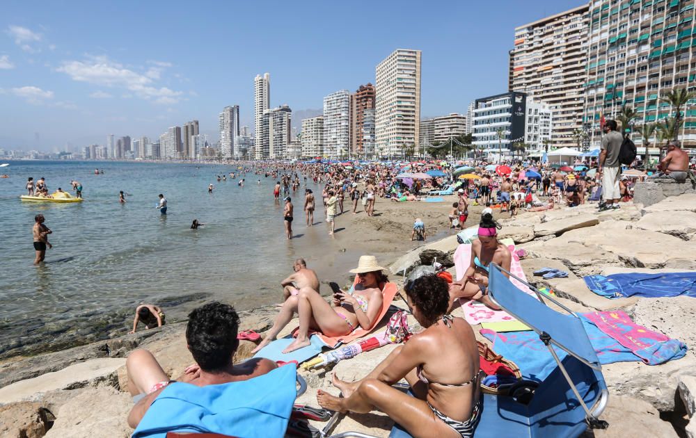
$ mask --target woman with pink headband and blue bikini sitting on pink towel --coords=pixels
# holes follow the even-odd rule
[[[471,263],[464,278],[453,282],[450,286],[450,311],[454,307],[454,300],[466,298],[477,300],[491,309],[500,310],[488,296],[488,270],[489,265],[496,263],[509,271],[512,256],[507,246],[498,241],[498,229],[500,225],[493,220],[492,213],[484,213],[479,224],[478,238],[471,243]],[[509,277],[507,273],[503,275]]]

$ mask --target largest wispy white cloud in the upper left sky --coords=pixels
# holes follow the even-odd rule
[[[154,81],[159,79],[161,70],[161,67],[150,67],[148,72],[140,74],[106,56],[91,56],[84,61],[65,61],[58,67],[58,72],[68,74],[74,81],[124,88],[141,99],[158,104],[175,104],[179,102],[182,92],[155,86]]]

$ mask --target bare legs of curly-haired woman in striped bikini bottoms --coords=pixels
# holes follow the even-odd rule
[[[459,437],[457,432],[436,419],[425,400],[411,397],[377,379],[363,380],[348,398],[338,398],[319,390],[319,405],[339,412],[367,414],[378,409],[416,437]]]

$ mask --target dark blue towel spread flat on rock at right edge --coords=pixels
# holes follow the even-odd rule
[[[696,273],[626,273],[583,277],[590,291],[606,298],[696,297]]]

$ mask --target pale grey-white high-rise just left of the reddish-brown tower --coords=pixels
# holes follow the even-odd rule
[[[350,147],[350,92],[339,90],[324,97],[324,154],[347,156]]]

